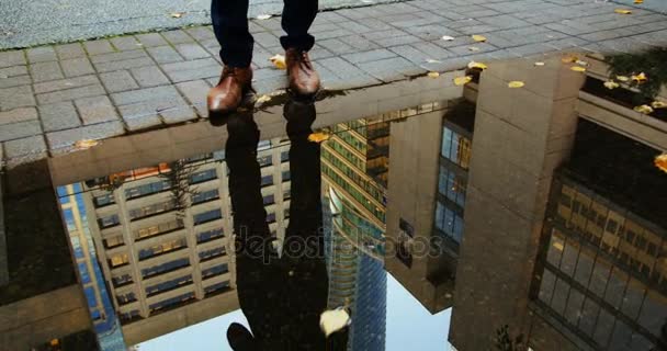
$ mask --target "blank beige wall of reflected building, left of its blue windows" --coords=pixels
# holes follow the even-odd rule
[[[442,296],[427,278],[442,269],[439,257],[430,257],[433,214],[438,194],[438,160],[442,138],[442,111],[392,124],[387,200],[387,256],[385,269],[431,313],[444,309]],[[398,245],[408,238],[399,228],[406,220],[414,229],[408,240],[412,264],[408,268],[396,257]],[[450,297],[451,297],[451,292]]]

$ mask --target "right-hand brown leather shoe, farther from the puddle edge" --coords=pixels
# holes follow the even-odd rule
[[[299,95],[313,95],[319,90],[319,76],[308,53],[296,48],[285,52],[287,76],[290,77],[290,90]]]

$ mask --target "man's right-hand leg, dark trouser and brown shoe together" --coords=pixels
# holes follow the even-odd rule
[[[319,90],[319,76],[310,64],[308,50],[315,38],[308,29],[317,15],[317,0],[284,0],[282,26],[287,35],[280,43],[285,49],[290,90],[299,95],[313,95]]]

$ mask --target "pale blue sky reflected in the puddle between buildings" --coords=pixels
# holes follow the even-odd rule
[[[431,315],[391,274],[387,274],[387,350],[450,350],[446,336],[451,308]],[[229,350],[227,327],[248,326],[240,309],[140,344],[140,351]],[[361,350],[360,350],[361,351]]]

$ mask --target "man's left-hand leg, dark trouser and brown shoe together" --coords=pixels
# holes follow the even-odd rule
[[[225,64],[219,82],[206,98],[208,116],[215,118],[236,110],[250,89],[255,41],[248,31],[248,0],[212,0],[211,16]]]

